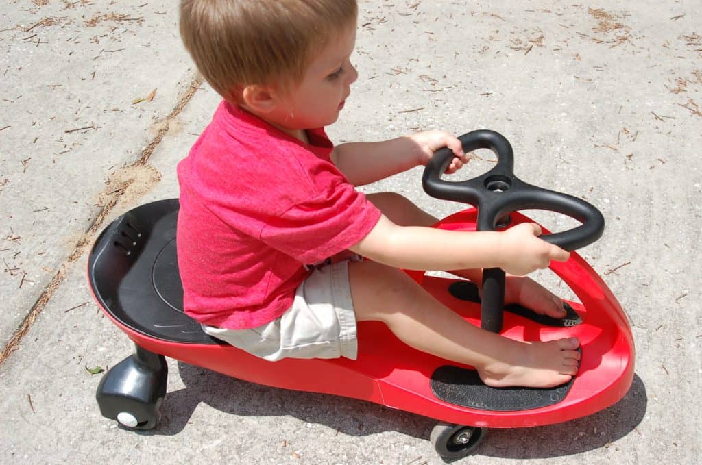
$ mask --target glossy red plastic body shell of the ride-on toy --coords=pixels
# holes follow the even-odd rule
[[[436,226],[475,231],[476,215],[477,211],[469,208],[447,217]],[[518,213],[512,214],[512,224],[525,221],[531,220]],[[176,344],[154,339],[126,328],[114,318],[113,321],[144,349],[249,382],[370,400],[454,424],[491,428],[538,426],[603,410],[625,395],[634,375],[635,351],[628,319],[604,281],[575,252],[567,262],[553,262],[551,269],[580,299],[581,303],[570,303],[583,323],[571,328],[543,327],[505,312],[501,332],[506,337],[524,341],[570,336],[581,341],[580,369],[566,398],[555,405],[534,410],[491,412],[439,400],[431,391],[430,377],[434,370],[451,363],[406,346],[382,323],[359,323],[357,360],[284,359],[269,362],[233,346]],[[411,275],[446,306],[471,323],[480,325],[479,304],[456,299],[447,292],[453,280],[421,273]]]

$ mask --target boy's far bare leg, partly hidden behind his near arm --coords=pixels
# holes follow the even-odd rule
[[[431,226],[437,218],[418,208],[409,199],[394,192],[369,194],[368,199],[383,214],[400,226]],[[448,271],[448,270],[446,270]],[[482,271],[479,269],[464,269],[449,271],[456,276],[466,278],[477,285],[482,284]],[[566,311],[562,300],[553,295],[548,289],[526,276],[507,276],[505,288],[505,303],[521,304],[538,314],[563,318]]]

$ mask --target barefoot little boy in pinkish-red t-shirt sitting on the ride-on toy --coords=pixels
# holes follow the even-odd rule
[[[418,350],[474,366],[490,386],[567,382],[577,339],[529,344],[486,332],[399,270],[454,270],[479,282],[482,268],[524,275],[569,254],[538,238],[536,224],[441,231],[402,196],[354,189],[423,165],[442,147],[456,155],[450,172],[467,161],[442,131],[329,142],[324,126],[357,79],[356,19],[355,0],[181,1],[185,46],[224,97],[178,165],[185,311],[267,360],[356,358],[356,323],[374,320]],[[510,276],[505,293],[564,316],[529,278]]]

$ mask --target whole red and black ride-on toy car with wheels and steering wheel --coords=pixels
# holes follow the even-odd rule
[[[459,137],[466,152],[491,149],[498,163],[464,182],[441,179],[451,160],[442,149],[425,169],[423,184],[437,198],[474,205],[436,227],[460,231],[505,229],[529,221],[517,210],[543,209],[581,222],[545,241],[567,250],[600,238],[602,214],[579,198],[522,182],[512,172],[512,147],[504,137],[478,130]],[[406,346],[385,325],[358,326],[357,360],[284,359],[269,362],[202,332],[183,313],[183,290],[176,260],[176,199],[135,208],[114,220],[93,245],[88,278],[93,295],[136,351],[110,369],[98,386],[105,417],[128,429],[151,429],[166,396],[164,356],[268,386],[336,394],[437,419],[431,434],[446,460],[475,449],[487,428],[519,428],[565,422],[616,403],[634,373],[634,344],[628,320],[614,295],[576,253],[553,262],[552,271],[580,302],[556,320],[519,306],[504,306],[505,274],[484,270],[482,302],[477,287],[459,279],[412,276],[437,299],[475,325],[524,341],[578,337],[578,375],[552,389],[485,386],[469,366],[456,365]],[[547,231],[548,232],[548,231]]]

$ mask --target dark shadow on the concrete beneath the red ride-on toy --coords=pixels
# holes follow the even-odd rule
[[[175,435],[190,421],[199,403],[230,415],[292,416],[323,424],[348,436],[397,431],[428,440],[436,421],[382,405],[350,398],[277,389],[244,382],[185,363],[178,363],[185,389],[170,392],[157,429],[145,435]],[[550,426],[491,429],[477,455],[511,459],[537,459],[579,454],[600,447],[616,447],[616,440],[635,430],[646,413],[644,383],[634,375],[624,398],[589,417]]]

